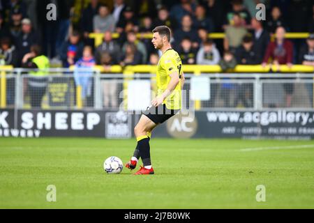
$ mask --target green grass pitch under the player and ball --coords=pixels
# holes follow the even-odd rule
[[[0,138],[0,208],[314,208],[314,141],[153,138],[155,175],[105,173],[105,158],[125,163],[134,148],[134,139]]]

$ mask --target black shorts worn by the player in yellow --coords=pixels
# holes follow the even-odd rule
[[[154,121],[154,123],[161,124],[178,112],[179,110],[167,109],[165,105],[159,105],[158,107],[148,107],[147,110],[143,112],[143,114],[147,116],[151,121]]]

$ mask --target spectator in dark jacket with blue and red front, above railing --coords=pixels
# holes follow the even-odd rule
[[[63,68],[73,66],[80,57],[82,57],[84,45],[80,41],[80,33],[73,31],[70,33],[68,41],[64,42],[61,46],[60,59]]]

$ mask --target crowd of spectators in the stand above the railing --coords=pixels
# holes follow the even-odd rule
[[[57,5],[57,21],[45,18],[49,3]],[[257,3],[267,6],[265,21],[255,18]],[[284,38],[287,31],[314,31],[313,1],[0,0],[0,64],[20,67],[35,44],[65,68],[87,45],[99,65],[151,64],[160,52],[144,36],[160,25],[172,29],[172,47],[185,64],[221,65],[228,54],[236,64],[314,63],[313,35],[302,43]],[[224,32],[223,41],[210,39],[213,32]],[[103,43],[95,47],[90,33],[104,33]]]

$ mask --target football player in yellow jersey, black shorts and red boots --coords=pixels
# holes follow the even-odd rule
[[[157,26],[153,30],[151,43],[163,54],[159,59],[156,72],[157,97],[151,101],[151,107],[143,112],[134,129],[137,146],[126,167],[131,170],[135,169],[141,157],[143,167],[135,175],[154,174],[149,146],[151,131],[181,109],[184,72],[182,72],[179,54],[170,45],[170,38],[171,31],[167,26]]]

